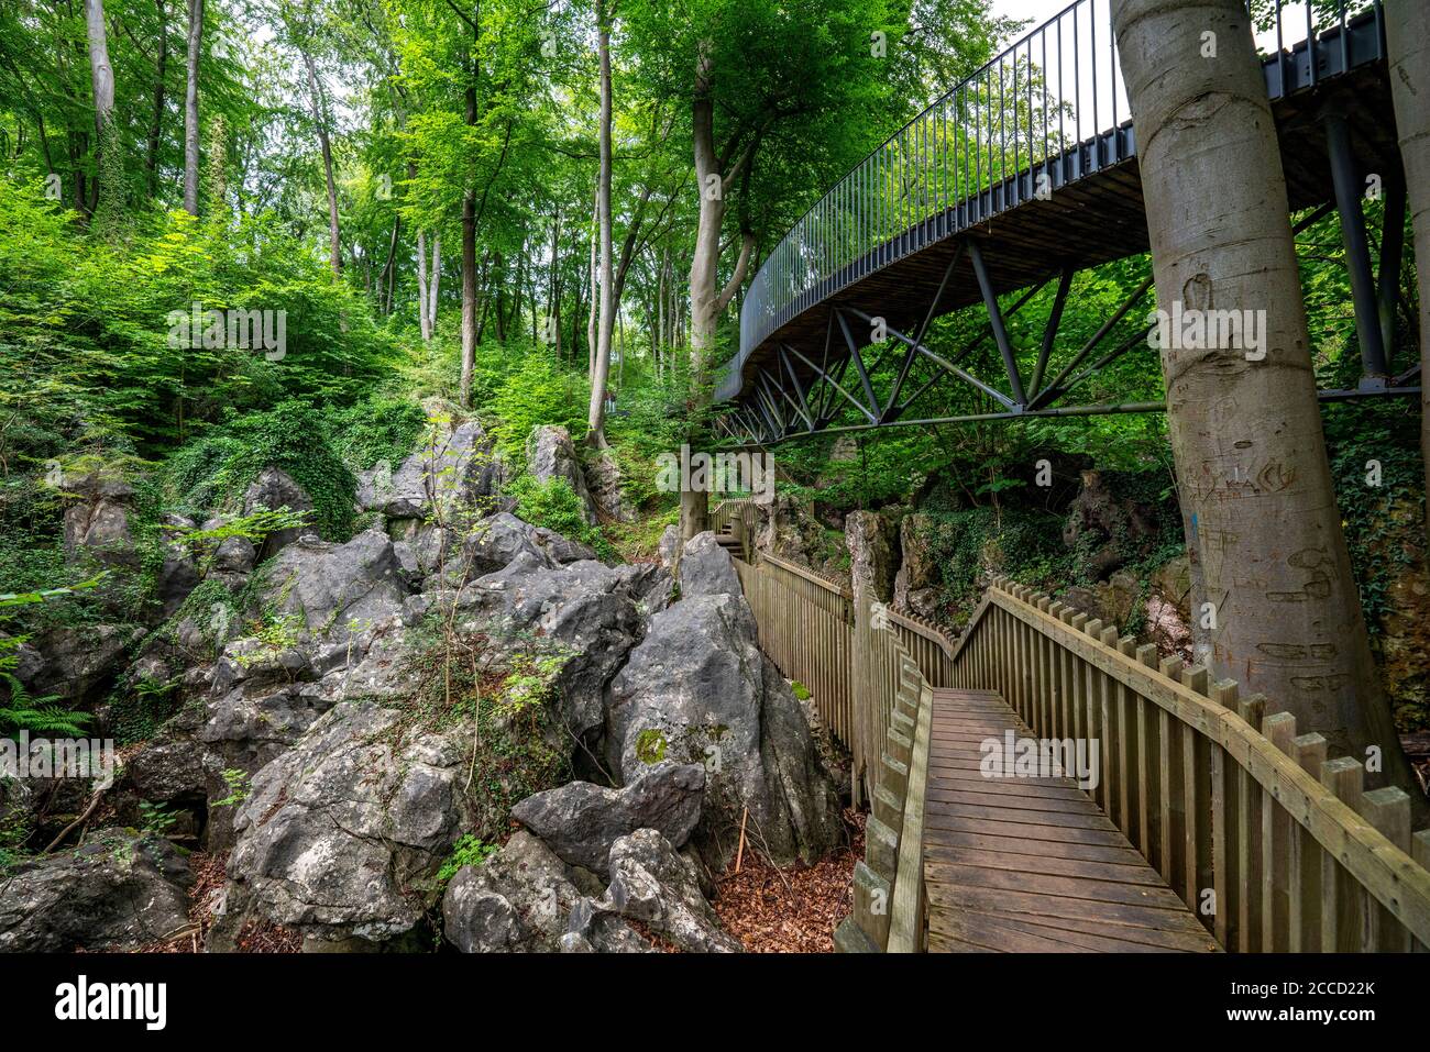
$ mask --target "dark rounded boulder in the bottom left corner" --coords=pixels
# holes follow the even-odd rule
[[[0,875],[0,953],[132,951],[189,923],[183,855],[153,833],[102,829]]]

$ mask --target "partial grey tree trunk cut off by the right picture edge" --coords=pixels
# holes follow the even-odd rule
[[[1430,6],[1387,4],[1386,43],[1400,159],[1414,224],[1420,290],[1420,452],[1430,482]],[[1426,502],[1426,545],[1430,550],[1430,500]]]

